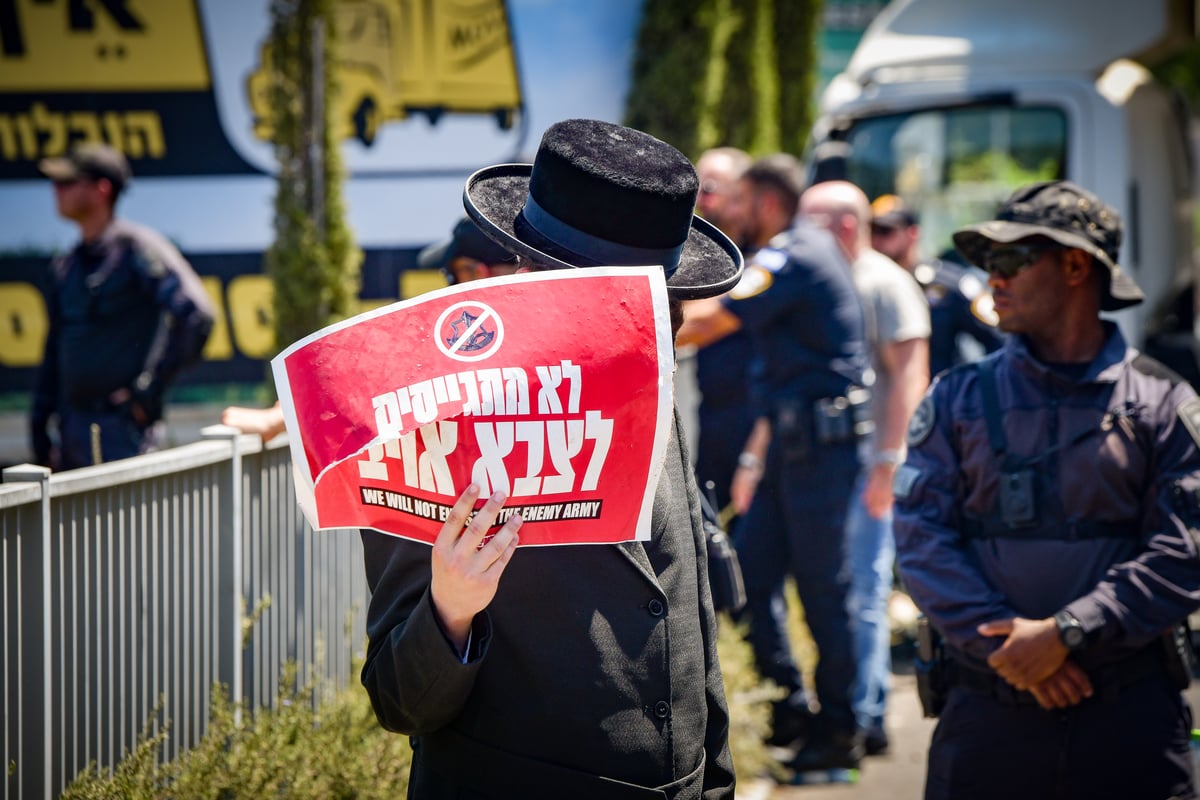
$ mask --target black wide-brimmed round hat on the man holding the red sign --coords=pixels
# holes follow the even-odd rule
[[[670,144],[599,120],[546,130],[533,164],[467,179],[463,205],[493,241],[550,267],[662,266],[680,300],[712,297],[742,277],[742,254],[697,217],[700,182]]]

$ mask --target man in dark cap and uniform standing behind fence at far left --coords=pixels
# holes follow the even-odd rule
[[[167,387],[208,339],[211,301],[170,242],[116,218],[132,178],[120,151],[85,144],[38,167],[82,241],[50,267],[50,324],[30,416],[34,459],[72,469],[146,452],[158,444]]]

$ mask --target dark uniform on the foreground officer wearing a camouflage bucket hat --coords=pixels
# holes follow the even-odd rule
[[[926,799],[1196,796],[1164,632],[1200,606],[1200,399],[1104,325],[1074,371],[1010,337],[943,374],[910,426],[898,563],[954,682]],[[1046,711],[988,667],[1004,639],[976,628],[1058,612],[1096,691]]]

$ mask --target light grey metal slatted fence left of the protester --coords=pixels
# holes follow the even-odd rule
[[[204,734],[212,687],[269,705],[283,667],[344,686],[365,643],[356,531],[300,515],[286,443],[205,441],[0,485],[4,796],[56,796],[112,766],[162,703],[168,758]]]

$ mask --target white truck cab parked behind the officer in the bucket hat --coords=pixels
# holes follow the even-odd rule
[[[916,209],[923,255],[1016,186],[1069,179],[1126,222],[1147,302],[1127,337],[1195,383],[1193,154],[1176,95],[1145,65],[1194,42],[1172,0],[895,0],[826,89],[810,163]]]

